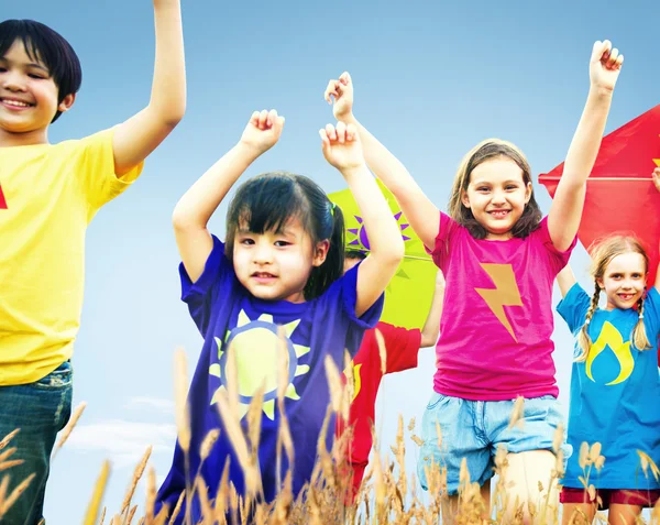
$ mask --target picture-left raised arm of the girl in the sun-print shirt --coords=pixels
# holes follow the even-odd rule
[[[243,172],[282,135],[284,117],[255,111],[240,142],[206,172],[180,198],[172,222],[182,261],[193,282],[204,272],[213,249],[207,223]]]

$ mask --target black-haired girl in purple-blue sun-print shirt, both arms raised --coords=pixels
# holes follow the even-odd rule
[[[328,124],[320,134],[326,160],[343,175],[369,230],[371,253],[354,271],[342,276],[341,210],[300,175],[276,172],[249,179],[229,206],[226,242],[209,232],[211,215],[250,164],[275,145],[283,127],[284,118],[275,110],[254,112],[239,143],[193,185],[174,211],[183,299],[205,344],[188,394],[190,445],[184,445],[186,451],[177,442],[172,470],[158,491],[158,506],[174,508],[198,471],[213,500],[228,460],[230,481],[239,494],[250,489],[218,414],[219,396],[230,390],[230,349],[243,428],[248,407],[263,389],[256,451],[261,485],[252,495],[273,500],[278,480],[289,470],[294,493],[302,489],[312,473],[330,401],[324,358],[330,356],[339,368],[344,349],[358,351],[364,330],[380,318],[383,292],[403,258],[396,220],[366,168],[354,127],[343,123]],[[285,414],[295,451],[295,460],[289,464],[284,457],[280,469],[276,460],[278,329],[286,336]],[[219,439],[202,462],[200,445],[216,428]],[[199,522],[197,495],[184,508],[190,523]]]

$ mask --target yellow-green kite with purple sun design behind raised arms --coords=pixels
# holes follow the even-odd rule
[[[385,291],[385,307],[381,321],[404,328],[422,328],[431,308],[438,269],[392,193],[380,181],[378,187],[397,220],[406,248],[404,260]],[[351,192],[343,189],[330,194],[329,197],[343,211],[346,248],[369,253],[369,237]]]

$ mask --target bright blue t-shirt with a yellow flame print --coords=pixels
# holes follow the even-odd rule
[[[571,287],[557,310],[578,335],[584,325],[591,297],[579,284]],[[590,484],[596,489],[659,489],[648,469],[645,475],[641,450],[660,464],[660,378],[658,335],[660,294],[651,287],[645,300],[644,322],[652,348],[639,351],[630,335],[639,320],[637,310],[598,308],[588,325],[593,341],[584,362],[573,362],[568,441],[573,447],[563,485],[583,489],[585,478],[579,464],[583,441],[598,441],[605,464],[594,468]],[[575,346],[575,354],[579,348]],[[588,469],[588,467],[587,467]]]

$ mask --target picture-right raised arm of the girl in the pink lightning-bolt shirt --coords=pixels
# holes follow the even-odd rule
[[[586,105],[548,214],[548,229],[557,250],[568,250],[578,233],[586,195],[586,178],[596,162],[614,86],[623,63],[624,55],[619,55],[618,50],[613,50],[609,41],[594,44]]]

